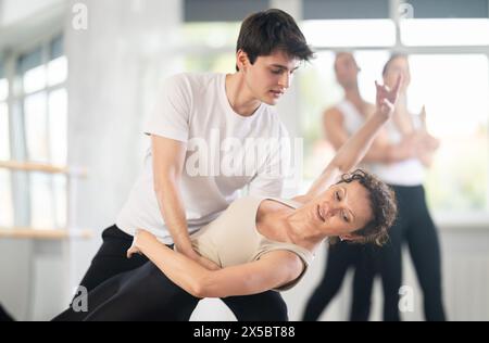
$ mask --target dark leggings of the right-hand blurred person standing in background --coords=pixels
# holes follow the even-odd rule
[[[408,243],[424,295],[426,320],[446,320],[441,290],[441,256],[438,233],[429,215],[423,186],[392,186],[399,215],[390,240],[374,254],[384,288],[384,319],[400,320],[399,289],[402,285],[402,245]]]

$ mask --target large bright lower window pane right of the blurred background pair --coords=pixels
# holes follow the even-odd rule
[[[450,212],[488,209],[487,55],[413,54],[410,64],[411,111],[426,104],[428,128],[441,139],[427,179],[430,203]]]

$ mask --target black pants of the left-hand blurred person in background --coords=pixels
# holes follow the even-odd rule
[[[309,298],[302,317],[304,321],[317,320],[343,283],[349,268],[354,268],[353,300],[350,320],[368,320],[371,294],[375,270],[367,256],[372,247],[339,242],[328,247],[326,269],[319,284]]]

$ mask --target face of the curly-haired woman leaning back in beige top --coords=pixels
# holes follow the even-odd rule
[[[346,240],[354,240],[352,232],[373,217],[368,191],[359,181],[331,186],[301,209],[315,229]]]

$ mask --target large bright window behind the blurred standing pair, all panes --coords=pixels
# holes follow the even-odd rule
[[[428,27],[419,29],[428,22]],[[361,93],[374,102],[372,82],[381,79],[389,51],[379,48],[380,41],[372,43],[371,50],[368,45],[351,48],[349,30],[344,30],[347,24],[354,26],[355,21],[314,21],[314,31],[334,31],[338,42],[344,38],[346,48],[355,51],[362,69]],[[365,25],[365,21],[359,21],[359,24]],[[305,23],[304,26],[309,25]],[[480,30],[487,25],[489,21],[480,18],[401,21],[402,42],[413,46],[403,48],[408,54],[412,51],[412,84],[408,93],[410,111],[416,114],[426,105],[428,129],[441,140],[441,148],[426,179],[428,201],[438,212],[489,209],[489,62],[487,52],[484,52],[489,43],[489,29]],[[344,31],[347,35],[343,37]],[[314,35],[311,37],[315,39]],[[440,50],[436,42],[446,47]],[[471,47],[465,48],[467,45]],[[418,52],[421,47],[423,53]],[[325,160],[333,154],[331,147],[324,140],[323,128],[317,124],[322,123],[324,110],[342,98],[333,69],[334,52],[321,47],[319,50],[314,63],[300,73],[305,179],[315,177]]]

